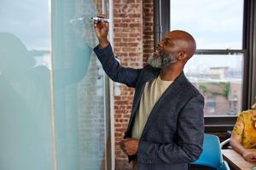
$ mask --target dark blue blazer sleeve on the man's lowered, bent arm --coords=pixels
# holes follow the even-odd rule
[[[201,94],[189,99],[177,120],[177,143],[157,144],[140,141],[139,162],[189,163],[202,152],[204,137],[204,99]]]

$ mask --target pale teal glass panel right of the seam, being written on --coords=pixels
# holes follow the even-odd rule
[[[55,133],[60,169],[107,169],[105,76],[93,20],[108,1],[51,0]],[[104,3],[102,5],[102,3]],[[107,8],[106,8],[107,9]],[[106,11],[104,11],[106,12]]]

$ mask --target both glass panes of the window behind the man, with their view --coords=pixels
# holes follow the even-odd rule
[[[236,116],[246,54],[243,0],[172,0],[170,7],[171,31],[188,31],[197,43],[184,73],[205,97],[205,116]]]

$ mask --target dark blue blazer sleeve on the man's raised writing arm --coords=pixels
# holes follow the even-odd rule
[[[142,69],[125,68],[119,65],[119,62],[114,58],[110,43],[106,48],[96,46],[94,51],[102,63],[103,70],[113,82],[121,82],[131,88],[136,87]]]

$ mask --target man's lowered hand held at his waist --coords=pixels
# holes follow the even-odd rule
[[[123,139],[119,144],[121,149],[128,156],[133,156],[137,154],[139,140],[138,139]]]

